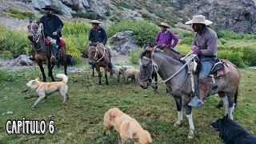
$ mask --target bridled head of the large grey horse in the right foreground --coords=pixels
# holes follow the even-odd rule
[[[145,50],[142,51],[140,62],[139,62],[139,78],[138,84],[143,89],[147,89],[152,81],[152,74],[157,71],[154,69],[153,57],[154,48],[146,46]]]

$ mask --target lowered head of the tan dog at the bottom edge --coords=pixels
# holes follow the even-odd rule
[[[150,133],[147,130],[139,131],[133,134],[133,141],[136,144],[151,144],[152,139]]]

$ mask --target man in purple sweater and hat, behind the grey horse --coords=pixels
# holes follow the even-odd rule
[[[154,39],[154,44],[160,48],[173,49],[178,43],[178,37],[172,31],[167,30],[170,26],[166,22],[161,22],[158,26],[160,27],[160,32]],[[173,39],[174,43],[172,44]]]

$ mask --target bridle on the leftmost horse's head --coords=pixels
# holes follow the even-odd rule
[[[36,22],[33,22],[33,23],[30,23],[30,31],[33,31],[34,32],[34,29],[33,29],[33,26],[36,25],[38,26],[38,24]],[[44,38],[45,37],[45,34],[43,32],[43,25],[42,23],[39,23],[39,26],[38,26],[38,31],[36,33],[32,33],[32,36],[33,36],[33,42],[30,41],[31,44],[36,44],[40,41],[40,38]],[[46,42],[43,42],[42,46],[37,49],[35,48],[33,45],[33,48],[34,50],[41,50],[43,46],[45,46],[45,43]]]

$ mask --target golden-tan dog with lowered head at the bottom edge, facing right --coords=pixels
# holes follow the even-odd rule
[[[118,108],[113,108],[106,112],[103,135],[106,135],[106,130],[114,130],[114,128],[118,131],[118,144],[125,144],[126,142],[150,144],[152,142],[150,133],[144,130],[134,118],[130,118],[129,115]]]

